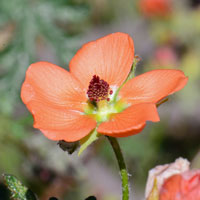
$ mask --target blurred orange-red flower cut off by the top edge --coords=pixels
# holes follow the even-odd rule
[[[171,12],[171,0],[140,0],[140,10],[147,17],[168,16]]]

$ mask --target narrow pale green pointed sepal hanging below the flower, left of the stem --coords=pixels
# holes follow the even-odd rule
[[[80,140],[80,149],[78,152],[78,156],[80,156],[83,151],[90,145],[92,142],[97,140],[99,137],[99,133],[97,132],[97,129],[95,128],[89,135],[84,137],[83,139]]]

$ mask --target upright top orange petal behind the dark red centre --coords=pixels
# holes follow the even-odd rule
[[[70,72],[88,88],[93,75],[109,85],[121,85],[128,76],[134,59],[132,38],[125,33],[113,33],[89,42],[72,58]]]

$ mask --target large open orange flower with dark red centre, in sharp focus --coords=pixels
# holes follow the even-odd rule
[[[154,70],[125,82],[134,61],[134,45],[125,33],[85,44],[72,58],[70,72],[48,62],[28,68],[21,98],[34,127],[51,140],[78,141],[98,133],[126,137],[146,121],[159,121],[156,103],[182,89],[179,70]]]

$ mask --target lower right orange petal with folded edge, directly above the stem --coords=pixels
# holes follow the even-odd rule
[[[137,104],[113,115],[98,127],[98,132],[113,137],[127,137],[142,131],[146,121],[159,121],[155,104]]]

